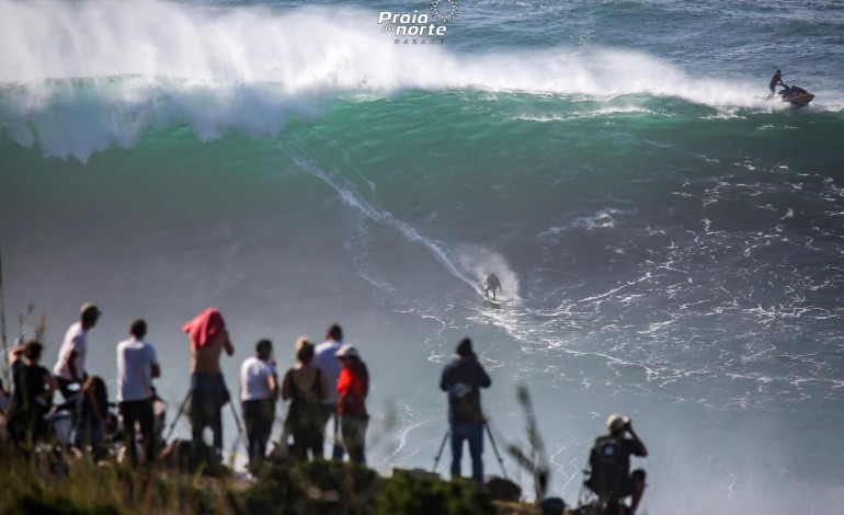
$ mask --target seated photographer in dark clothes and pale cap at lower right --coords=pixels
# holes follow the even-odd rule
[[[629,416],[609,415],[606,427],[607,434],[598,436],[592,447],[586,487],[606,503],[606,514],[620,514],[620,503],[630,496],[627,513],[634,515],[645,493],[646,473],[641,469],[630,472],[630,456],[647,458],[648,449],[634,431]]]

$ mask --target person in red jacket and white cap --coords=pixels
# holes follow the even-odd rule
[[[361,354],[345,344],[337,352],[343,363],[337,384],[339,394],[337,412],[340,417],[340,433],[349,459],[356,464],[366,464],[366,426],[369,414],[366,412],[366,396],[369,393],[369,370],[361,360]]]

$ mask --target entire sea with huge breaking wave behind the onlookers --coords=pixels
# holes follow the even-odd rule
[[[339,322],[384,473],[432,467],[468,335],[499,448],[524,445],[525,385],[569,503],[624,412],[648,513],[834,512],[844,8],[459,5],[422,46],[377,20],[425,3],[0,2],[9,320],[47,313],[52,364],[98,301],[89,370],[113,388],[146,317],[171,416],[202,309],[229,321],[232,388],[259,337],[286,368]],[[776,68],[817,99],[766,99]]]

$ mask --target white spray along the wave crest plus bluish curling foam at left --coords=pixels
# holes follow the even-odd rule
[[[201,139],[232,129],[273,137],[289,116],[319,116],[349,92],[358,100],[452,89],[655,95],[784,108],[754,98],[755,84],[693,78],[629,50],[396,45],[379,32],[377,13],[361,9],[0,1],[0,47],[13,49],[0,53],[0,127],[23,146],[82,161],[172,125]]]

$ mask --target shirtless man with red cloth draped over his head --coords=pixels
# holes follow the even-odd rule
[[[195,456],[204,455],[205,427],[214,433],[213,450],[223,458],[223,407],[230,399],[220,370],[220,355],[235,354],[226,321],[219,310],[208,308],[182,328],[191,344],[191,434]]]

